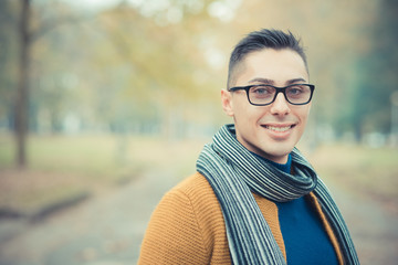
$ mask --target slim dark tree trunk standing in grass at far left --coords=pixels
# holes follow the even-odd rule
[[[27,167],[27,135],[28,135],[28,105],[29,105],[29,61],[30,61],[30,0],[22,0],[22,12],[19,24],[20,36],[20,66],[19,83],[15,97],[15,141],[17,166]]]

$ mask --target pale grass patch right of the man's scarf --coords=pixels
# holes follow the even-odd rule
[[[326,145],[311,155],[311,161],[326,181],[397,209],[398,149]]]

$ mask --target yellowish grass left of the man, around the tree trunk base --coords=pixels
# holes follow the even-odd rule
[[[176,178],[195,170],[203,141],[154,137],[30,136],[29,169],[14,169],[14,142],[0,135],[0,210],[32,212],[82,192],[108,190],[150,168]]]

